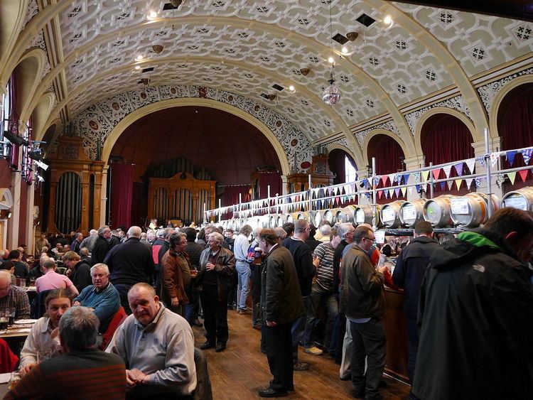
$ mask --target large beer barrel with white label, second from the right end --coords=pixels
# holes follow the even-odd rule
[[[492,210],[500,208],[500,200],[492,195]],[[475,228],[488,220],[488,195],[468,193],[451,199],[451,220],[459,227]]]

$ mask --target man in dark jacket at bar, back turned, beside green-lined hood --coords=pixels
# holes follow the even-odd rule
[[[421,221],[414,227],[414,239],[402,250],[397,258],[392,279],[394,284],[404,289],[404,314],[407,337],[409,338],[409,380],[413,382],[416,350],[419,347],[419,331],[416,328],[416,313],[419,309],[420,286],[429,264],[429,256],[438,247],[433,239],[433,227]]]

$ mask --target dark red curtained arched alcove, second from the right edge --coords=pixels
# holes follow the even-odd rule
[[[438,165],[474,157],[474,148],[471,145],[473,138],[468,126],[451,114],[434,114],[426,119],[421,126],[420,141],[426,166],[429,166],[429,163]],[[465,168],[463,174],[466,173],[469,171]],[[451,168],[449,177],[455,176],[457,176],[456,168]],[[446,178],[446,174],[441,171],[439,178]],[[456,183],[453,183],[451,188],[448,188],[445,182],[434,186],[434,192],[438,193],[463,195],[468,191],[465,182],[461,183],[459,189]]]

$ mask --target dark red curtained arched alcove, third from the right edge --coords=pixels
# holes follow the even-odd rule
[[[367,156],[369,163],[372,163],[372,157],[376,158],[376,175],[388,175],[404,169],[405,153],[402,150],[402,146],[392,136],[387,134],[377,134],[370,138],[367,144]],[[383,181],[379,180],[377,188],[392,185],[395,185],[395,183],[387,180],[384,185]],[[404,196],[400,192],[398,195],[395,194],[394,198],[385,198],[384,195],[379,197],[378,193],[377,202],[384,204],[397,200],[397,198],[404,199]]]

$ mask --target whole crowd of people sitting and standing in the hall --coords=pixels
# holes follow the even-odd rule
[[[234,311],[261,331],[273,378],[259,396],[295,390],[294,372],[310,367],[298,358],[303,351],[339,364],[352,396],[382,399],[386,286],[404,291],[411,399],[533,393],[531,212],[497,210],[483,228],[443,244],[429,222],[419,222],[409,242],[381,245],[370,225],[327,221],[121,232],[72,234],[70,249],[62,237],[43,236],[35,261],[23,247],[7,252],[0,309],[28,318],[28,296],[16,283],[34,280],[46,311],[23,346],[23,380],[9,399],[31,397],[34,384],[50,394],[79,389],[72,379],[43,382],[67,369],[75,377],[83,365],[108,371],[109,398],[190,398],[193,328],[205,328],[201,350],[223,352]],[[40,362],[43,354],[55,362]]]

